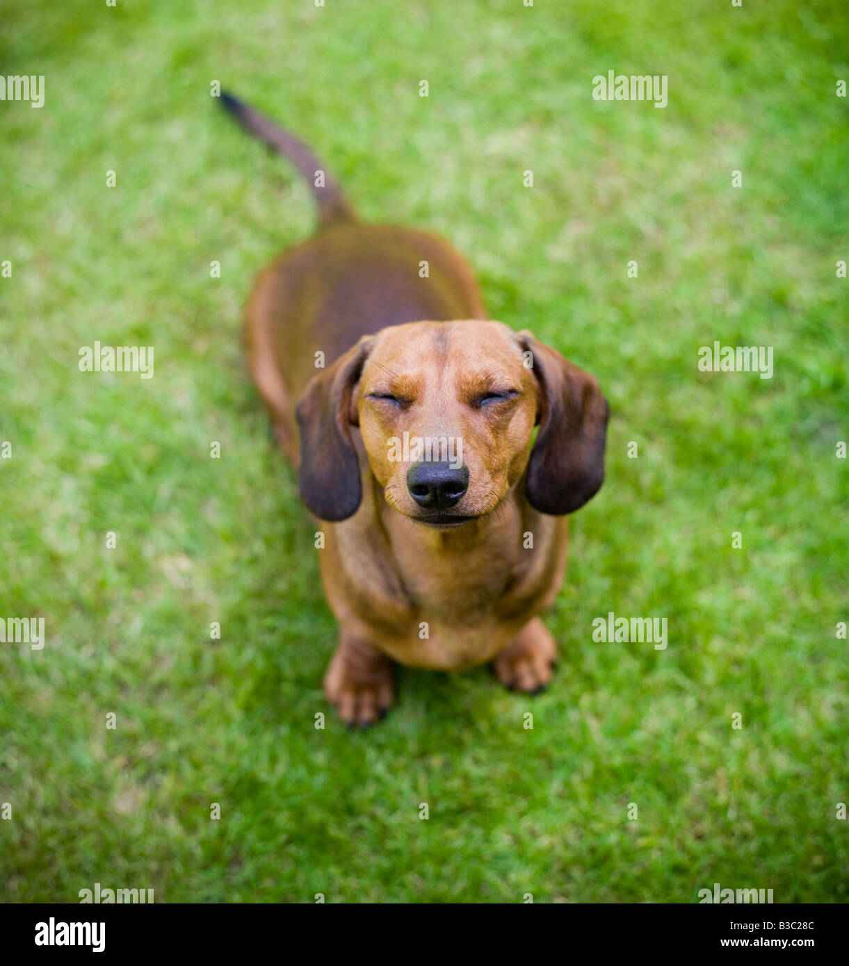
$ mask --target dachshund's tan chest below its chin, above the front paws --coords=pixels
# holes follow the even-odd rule
[[[414,530],[402,518],[395,525],[382,536],[337,526],[323,575],[340,622],[354,617],[358,633],[408,667],[461,670],[490,660],[563,578],[565,521],[529,525],[508,510],[488,522],[483,540],[473,531]]]

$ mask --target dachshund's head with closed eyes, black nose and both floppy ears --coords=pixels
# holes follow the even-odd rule
[[[301,496],[322,520],[357,510],[359,427],[386,502],[417,523],[483,517],[523,476],[531,506],[571,513],[601,486],[607,412],[595,378],[530,332],[480,321],[384,328],[307,385]]]

